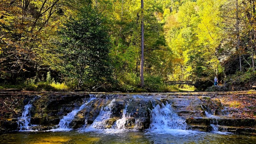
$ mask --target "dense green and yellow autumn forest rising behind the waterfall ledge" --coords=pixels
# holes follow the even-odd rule
[[[201,90],[215,76],[256,80],[256,0],[141,2],[0,0],[0,89],[173,92],[195,88],[165,81]]]

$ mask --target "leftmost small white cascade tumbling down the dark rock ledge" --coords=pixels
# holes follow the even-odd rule
[[[20,131],[32,131],[31,126],[36,126],[36,125],[31,125],[30,124],[30,110],[32,108],[32,104],[30,104],[30,101],[28,104],[25,105],[24,111],[22,113],[21,117],[18,117],[18,129]]]

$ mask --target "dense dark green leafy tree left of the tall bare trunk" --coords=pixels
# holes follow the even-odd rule
[[[98,89],[111,80],[109,39],[99,14],[87,6],[70,18],[60,31],[66,74],[77,80],[77,88]]]

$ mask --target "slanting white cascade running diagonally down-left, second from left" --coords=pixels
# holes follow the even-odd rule
[[[67,114],[67,116],[64,116],[61,120],[60,123],[58,124],[58,128],[57,129],[52,129],[50,131],[70,131],[72,130],[69,127],[69,124],[72,122],[72,120],[75,118],[76,114],[81,111],[82,109],[84,109],[86,107],[86,105],[88,103],[90,103],[92,100],[94,100],[96,98],[91,98],[90,100],[88,100],[86,103],[84,103],[83,105],[80,106],[79,109],[74,109],[73,111],[71,111],[70,113]]]

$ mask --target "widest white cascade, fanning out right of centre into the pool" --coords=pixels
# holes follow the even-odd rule
[[[156,105],[151,111],[151,124],[148,133],[187,135],[198,133],[186,130],[186,122],[172,110],[171,104]]]

